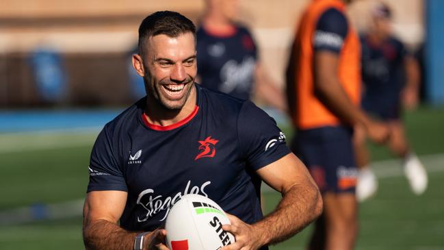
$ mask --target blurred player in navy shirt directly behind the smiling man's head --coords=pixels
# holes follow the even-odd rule
[[[257,45],[247,27],[235,23],[238,0],[205,0],[197,31],[198,82],[239,99],[263,99],[286,110],[283,92],[259,62]]]

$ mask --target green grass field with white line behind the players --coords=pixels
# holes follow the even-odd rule
[[[396,161],[375,164],[380,189],[376,197],[361,203],[356,249],[444,249],[444,110],[409,112],[406,125],[428,168],[429,188],[416,197]],[[83,199],[95,136],[0,134],[0,249],[83,249],[79,202],[51,208],[55,219],[44,221],[26,221],[18,213],[27,210],[18,208]],[[378,161],[391,158],[387,149],[371,145],[371,152]],[[280,196],[267,191],[264,197],[265,212],[270,212]],[[304,249],[310,231],[311,227],[272,249]]]

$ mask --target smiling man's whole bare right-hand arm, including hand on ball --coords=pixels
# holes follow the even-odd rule
[[[231,225],[223,229],[235,235],[236,242],[223,248],[259,249],[283,241],[300,232],[322,213],[322,197],[306,167],[289,153],[257,171],[263,181],[282,193],[276,209],[252,225],[229,216]]]

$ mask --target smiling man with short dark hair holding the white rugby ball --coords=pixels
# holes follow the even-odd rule
[[[133,66],[146,97],[107,123],[92,149],[87,249],[167,249],[161,227],[190,193],[232,214],[222,228],[236,242],[224,250],[267,249],[321,213],[319,190],[276,122],[250,101],[194,83],[196,28],[189,19],[177,12],[146,17]],[[265,218],[262,180],[283,195]]]

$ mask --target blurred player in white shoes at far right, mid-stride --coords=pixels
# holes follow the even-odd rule
[[[361,37],[362,107],[389,126],[389,140],[384,143],[403,159],[404,175],[411,190],[421,195],[427,188],[427,173],[410,149],[401,118],[402,106],[416,107],[419,99],[419,66],[413,55],[392,35],[391,10],[378,3],[371,11],[371,26]],[[365,131],[357,125],[354,134],[356,163],[359,168],[356,195],[364,201],[376,193],[378,181],[369,167]]]

